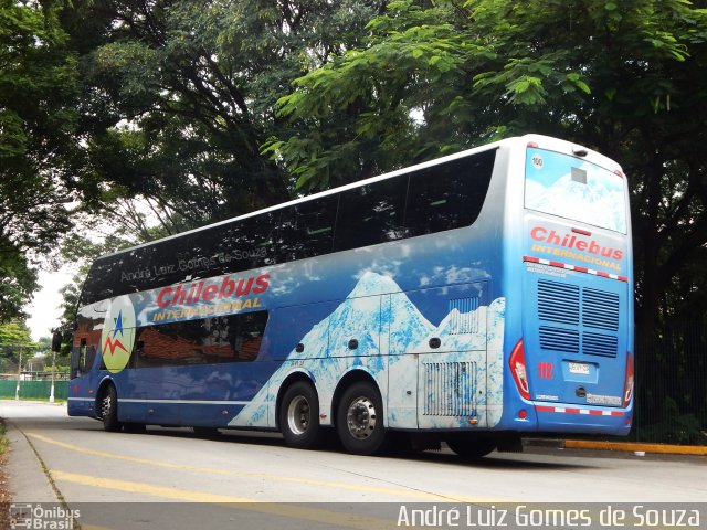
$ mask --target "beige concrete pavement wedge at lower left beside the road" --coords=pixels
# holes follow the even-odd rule
[[[4,422],[8,427],[7,437],[10,442],[7,471],[13,501],[59,502],[42,463],[22,431],[17,428],[12,421],[6,420]]]

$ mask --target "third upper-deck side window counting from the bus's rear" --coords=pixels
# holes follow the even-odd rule
[[[303,202],[283,210],[278,261],[291,262],[331,252],[338,195]]]

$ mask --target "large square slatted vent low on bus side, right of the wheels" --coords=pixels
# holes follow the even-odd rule
[[[476,363],[424,362],[426,416],[476,415]]]

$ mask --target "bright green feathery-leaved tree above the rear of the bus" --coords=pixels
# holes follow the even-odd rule
[[[295,82],[281,99],[294,134],[267,150],[323,188],[511,134],[597,148],[629,174],[637,321],[653,329],[707,287],[704,273],[680,286],[707,243],[704,4],[391,3],[366,45]]]

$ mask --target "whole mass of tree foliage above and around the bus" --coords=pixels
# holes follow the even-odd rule
[[[705,7],[0,0],[0,319],[78,197],[117,246],[526,131],[624,166],[640,320],[704,314]]]

